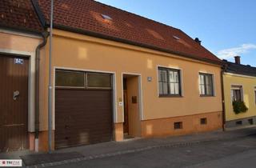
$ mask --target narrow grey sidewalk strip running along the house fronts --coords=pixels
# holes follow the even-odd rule
[[[67,162],[79,162],[95,158],[135,153],[158,147],[189,146],[194,143],[220,141],[232,138],[242,138],[256,134],[256,127],[214,131],[202,134],[190,134],[167,138],[136,138],[123,142],[103,142],[90,146],[78,146],[55,150],[52,154],[35,154],[30,151],[0,154],[0,158],[22,158],[26,166],[44,167],[61,165]],[[23,164],[24,165],[24,164]]]

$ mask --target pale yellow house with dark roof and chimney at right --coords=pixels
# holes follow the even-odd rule
[[[227,62],[223,74],[226,128],[255,125],[256,67],[242,65],[240,57]]]

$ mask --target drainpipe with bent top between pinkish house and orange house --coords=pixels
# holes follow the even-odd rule
[[[35,55],[35,114],[34,114],[34,150],[38,152],[38,137],[39,137],[39,66],[40,66],[40,50],[43,46],[46,46],[47,38],[49,36],[48,32],[43,32],[43,41],[36,48]]]

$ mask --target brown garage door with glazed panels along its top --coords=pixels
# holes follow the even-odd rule
[[[93,75],[96,78],[91,78]],[[57,149],[107,142],[113,139],[112,89],[88,87],[92,79],[96,81],[92,83],[92,86],[95,86],[98,82],[102,82],[102,79],[104,83],[104,77],[111,76],[99,74],[103,75],[103,78],[98,78],[97,75],[57,71],[58,87],[55,90],[55,147]]]

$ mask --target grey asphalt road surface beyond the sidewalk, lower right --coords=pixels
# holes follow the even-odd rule
[[[256,134],[243,138],[158,147],[52,167],[256,167]]]

